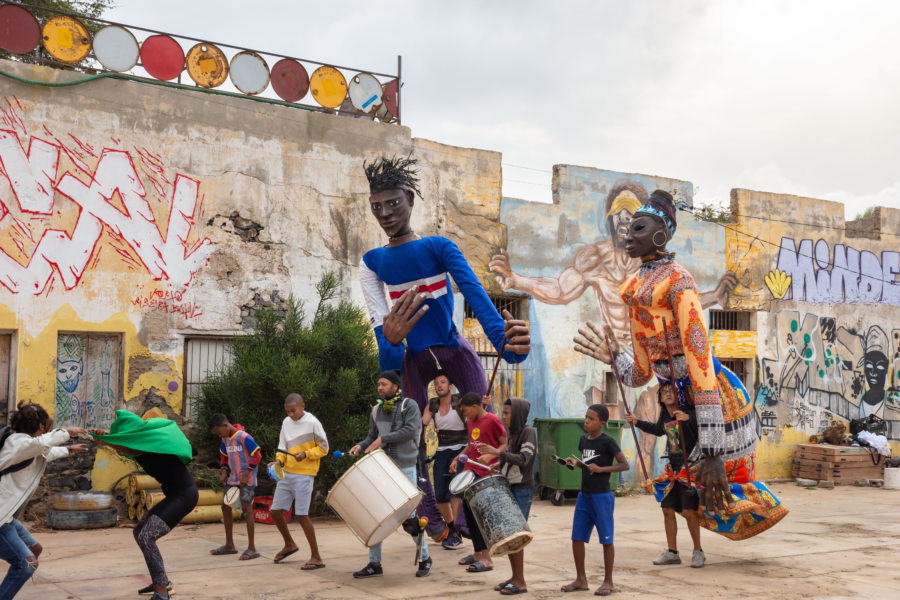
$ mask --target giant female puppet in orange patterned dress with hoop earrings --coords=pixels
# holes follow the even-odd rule
[[[575,350],[606,363],[615,361],[630,387],[643,386],[654,375],[669,382],[669,365],[674,365],[679,402],[694,405],[699,425],[688,462],[690,481],[696,483],[705,508],[701,525],[731,539],[745,539],[765,531],[788,511],[765,485],[754,481],[756,413],[740,379],[710,351],[694,278],[666,252],[675,226],[672,196],[657,190],[637,209],[629,227],[625,251],[641,259],[639,271],[621,288],[634,357],[619,351],[608,327],[601,330],[593,323],[579,329]],[[675,480],[688,483],[684,469],[669,469],[653,482],[658,500]]]

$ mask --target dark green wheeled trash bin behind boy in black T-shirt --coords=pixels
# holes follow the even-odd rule
[[[625,421],[610,419],[603,427],[603,433],[621,445],[622,427]],[[584,419],[535,419],[534,427],[538,436],[538,472],[542,488],[553,490],[550,501],[560,505],[564,502],[564,492],[581,489],[581,469],[569,470],[560,465],[553,456],[567,458],[579,456],[578,440],[584,435]],[[619,487],[619,474],[611,473],[609,487]]]

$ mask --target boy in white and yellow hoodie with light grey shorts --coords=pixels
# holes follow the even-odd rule
[[[284,548],[275,555],[275,562],[279,563],[299,550],[285,522],[285,514],[293,502],[294,514],[300,521],[310,551],[309,560],[301,569],[310,571],[325,566],[319,556],[316,531],[309,519],[309,500],[319,472],[319,459],[328,454],[328,438],[319,420],[305,409],[306,403],[300,394],[289,394],[284,399],[284,411],[288,416],[281,423],[275,455],[275,460],[284,467],[284,479],[275,486],[271,512],[275,526],[284,538]]]

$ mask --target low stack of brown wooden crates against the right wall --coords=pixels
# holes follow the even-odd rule
[[[874,464],[872,455],[865,448],[798,444],[791,475],[795,478],[852,485],[859,479],[882,479],[884,463]]]

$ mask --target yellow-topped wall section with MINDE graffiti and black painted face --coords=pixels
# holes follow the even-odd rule
[[[900,440],[900,211],[845,223],[839,203],[734,190],[732,212],[731,305],[764,311],[754,381],[763,472],[787,476],[792,444],[834,420],[875,414]]]

